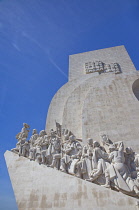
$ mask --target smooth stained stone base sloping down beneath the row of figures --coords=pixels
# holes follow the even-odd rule
[[[6,151],[19,210],[133,210],[138,199]]]

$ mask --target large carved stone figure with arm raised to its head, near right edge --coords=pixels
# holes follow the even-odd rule
[[[109,147],[109,160],[111,165],[105,171],[106,185],[110,187],[111,183],[116,189],[124,191],[128,194],[135,193],[139,195],[139,191],[134,181],[128,173],[127,166],[124,164],[124,145],[119,141]]]

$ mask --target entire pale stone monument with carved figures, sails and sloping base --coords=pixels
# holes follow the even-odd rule
[[[139,73],[123,46],[71,55],[46,131],[27,140],[24,123],[5,153],[18,208],[138,209],[138,100]]]

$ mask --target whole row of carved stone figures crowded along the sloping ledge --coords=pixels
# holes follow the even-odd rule
[[[37,133],[33,129],[29,140],[30,126],[23,124],[13,152],[56,168],[62,172],[93,182],[104,187],[121,191],[127,195],[139,197],[139,155],[130,147],[124,149],[122,141],[112,142],[102,135],[102,145],[93,139],[87,139],[82,145],[80,139],[69,132],[45,130]]]

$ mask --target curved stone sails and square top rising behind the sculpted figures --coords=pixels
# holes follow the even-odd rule
[[[70,56],[69,81],[52,99],[46,129],[55,121],[83,143],[105,133],[139,152],[139,72],[124,46]]]

